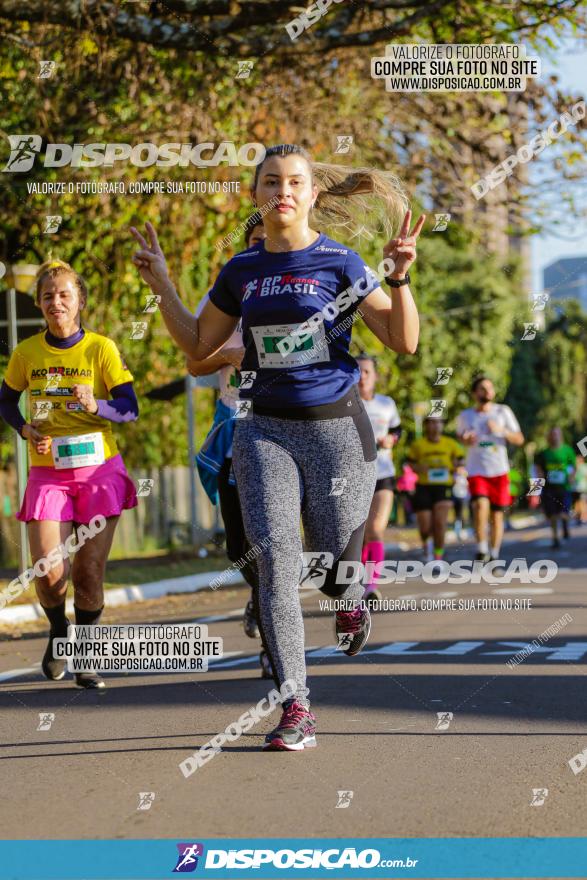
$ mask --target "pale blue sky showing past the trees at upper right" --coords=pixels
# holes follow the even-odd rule
[[[535,54],[528,52],[529,55]],[[544,75],[556,73],[562,88],[572,89],[573,93],[587,99],[587,43],[567,39],[557,53],[554,62],[542,59]],[[583,123],[584,125],[585,123]],[[546,151],[543,153],[546,158]],[[557,236],[546,234],[532,238],[532,292],[539,293],[544,289],[542,270],[545,266],[562,257],[587,257],[587,223],[578,225],[577,218],[571,218],[570,230],[573,241],[564,241]],[[569,236],[570,237],[570,236]]]

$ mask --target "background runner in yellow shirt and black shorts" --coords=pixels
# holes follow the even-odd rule
[[[434,559],[442,559],[444,555],[454,472],[464,462],[462,447],[451,437],[444,437],[443,430],[442,419],[425,419],[424,436],[414,440],[408,450],[408,460],[418,474],[413,503],[426,562],[432,559],[430,539],[434,545]]]

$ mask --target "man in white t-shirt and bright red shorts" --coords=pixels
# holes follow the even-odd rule
[[[477,538],[476,559],[489,562],[499,559],[503,512],[511,503],[507,444],[521,446],[524,435],[509,406],[494,402],[491,379],[478,376],[471,391],[475,406],[459,415],[457,436],[468,447],[466,468]],[[488,524],[491,544],[487,539]]]

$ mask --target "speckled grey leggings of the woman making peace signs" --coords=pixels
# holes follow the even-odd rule
[[[350,604],[360,600],[359,581],[336,585],[336,566],[339,560],[361,561],[375,488],[373,430],[364,410],[316,421],[253,413],[237,422],[233,466],[247,538],[259,547],[263,642],[278,686],[293,679],[295,698],[307,703],[300,515],[306,551],[334,557],[322,591]],[[341,479],[346,483],[333,482]],[[341,485],[342,492],[332,494]]]

